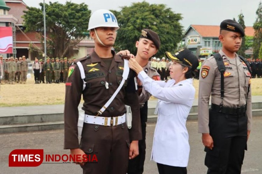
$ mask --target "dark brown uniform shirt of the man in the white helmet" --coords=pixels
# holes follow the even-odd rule
[[[84,100],[82,109],[86,114],[95,116],[118,88],[123,78],[124,61],[115,52],[112,53],[114,58],[109,69],[95,51],[89,57],[74,61],[71,66],[74,70],[67,78],[64,106],[64,149],[79,148],[77,121],[81,95],[83,94]],[[86,88],[84,91],[82,91],[83,80],[81,79],[80,70],[76,65],[78,61],[83,64],[86,74]],[[131,141],[142,139],[138,94],[134,82],[135,75],[135,72],[130,69],[129,79],[126,80],[116,98],[102,114],[103,117],[120,116],[126,113],[124,104],[131,106],[133,114],[132,128],[129,129]],[[109,84],[108,89],[105,86],[106,82]],[[83,130],[85,129],[83,128]],[[86,133],[83,132],[83,134]]]

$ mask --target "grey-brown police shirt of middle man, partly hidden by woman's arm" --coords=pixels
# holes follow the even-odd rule
[[[143,70],[145,71],[145,73],[154,80],[160,80],[160,75],[157,72],[156,69],[152,68],[149,63],[143,67]],[[149,98],[151,97],[151,94],[147,91],[145,91],[145,88],[142,88],[142,92],[140,93],[138,100],[139,100],[139,106],[142,107],[144,105],[144,103],[146,101],[149,100]]]

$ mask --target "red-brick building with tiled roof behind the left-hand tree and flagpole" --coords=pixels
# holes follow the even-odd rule
[[[14,39],[14,53],[16,52],[16,57],[21,57],[25,55],[30,60],[34,60],[35,57],[39,57],[39,51],[43,50],[42,38],[44,37],[42,33],[31,31],[24,32],[25,27],[23,26],[23,11],[28,10],[27,5],[23,0],[0,0],[6,4],[5,10],[0,10],[0,26],[10,26],[11,23],[15,25],[15,39]],[[1,5],[1,4],[0,4]],[[9,9],[9,11],[7,10]],[[48,33],[47,33],[48,39]],[[78,54],[74,55],[76,58],[81,58],[90,54],[94,48],[94,41],[90,40],[89,37],[81,41],[75,46],[74,49],[78,50]],[[31,46],[36,50],[30,50]],[[10,55],[5,55],[7,57]]]

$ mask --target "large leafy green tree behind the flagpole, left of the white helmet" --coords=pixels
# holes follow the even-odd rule
[[[43,32],[43,3],[41,9],[27,7],[24,11],[24,26],[27,31]],[[87,31],[91,10],[84,3],[75,4],[66,2],[49,2],[46,9],[46,31],[47,31],[47,55],[49,57],[70,57],[75,52],[76,46],[84,37]],[[43,38],[41,39],[41,41]]]

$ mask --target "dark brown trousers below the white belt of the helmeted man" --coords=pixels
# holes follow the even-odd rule
[[[113,127],[84,123],[80,148],[97,161],[85,164],[83,174],[126,174],[129,147],[126,123]]]

